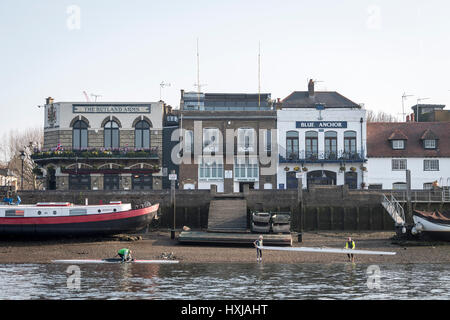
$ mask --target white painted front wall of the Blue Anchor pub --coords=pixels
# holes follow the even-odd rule
[[[319,121],[319,122],[346,122],[346,128],[297,128],[297,122]],[[357,173],[357,186],[361,188],[361,183],[366,182],[367,173],[361,167],[366,164],[364,162],[349,161],[324,161],[325,153],[325,132],[335,131],[337,133],[337,152],[344,150],[344,132],[356,132],[356,149],[357,153],[363,158],[366,155],[366,111],[356,108],[325,108],[317,110],[315,108],[285,108],[277,111],[277,129],[278,129],[278,148],[280,161],[277,170],[277,188],[287,188],[287,173],[293,174],[294,168],[299,168],[302,174],[303,188],[307,187],[308,172],[316,170],[327,170],[336,174],[336,185],[345,183],[345,172],[341,172],[341,166],[345,166],[346,172],[350,168],[355,168]],[[306,149],[305,133],[307,131],[316,131],[318,133],[318,159],[316,161],[302,161],[283,163],[282,158],[286,158],[286,133],[288,131],[298,132],[299,151],[300,153]],[[302,172],[302,167],[307,168],[307,172]]]

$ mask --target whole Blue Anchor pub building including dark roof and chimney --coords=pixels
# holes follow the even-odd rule
[[[277,108],[278,189],[366,187],[366,111],[337,92],[295,91]]]

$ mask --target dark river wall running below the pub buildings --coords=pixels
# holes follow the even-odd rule
[[[173,228],[174,201],[170,190],[150,191],[22,191],[24,204],[68,201],[75,204],[99,204],[122,201],[139,206],[144,202],[159,203],[156,226]],[[213,199],[243,198],[251,210],[291,212],[292,231],[315,230],[394,230],[394,223],[381,205],[379,192],[355,190],[347,186],[318,186],[309,190],[249,190],[243,193],[217,193],[211,190],[176,190],[176,228],[206,229],[208,211]],[[414,209],[443,209],[443,204],[413,204]],[[406,209],[406,206],[405,206]],[[448,207],[447,207],[448,209]],[[250,219],[248,219],[250,221]]]

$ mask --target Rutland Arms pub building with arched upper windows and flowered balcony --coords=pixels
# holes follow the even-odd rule
[[[54,102],[32,158],[58,190],[162,188],[163,102]]]

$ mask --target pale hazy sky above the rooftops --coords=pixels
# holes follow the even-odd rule
[[[55,101],[158,101],[204,92],[337,91],[365,108],[450,104],[450,2],[0,0],[0,137]],[[448,109],[448,107],[447,107]]]

